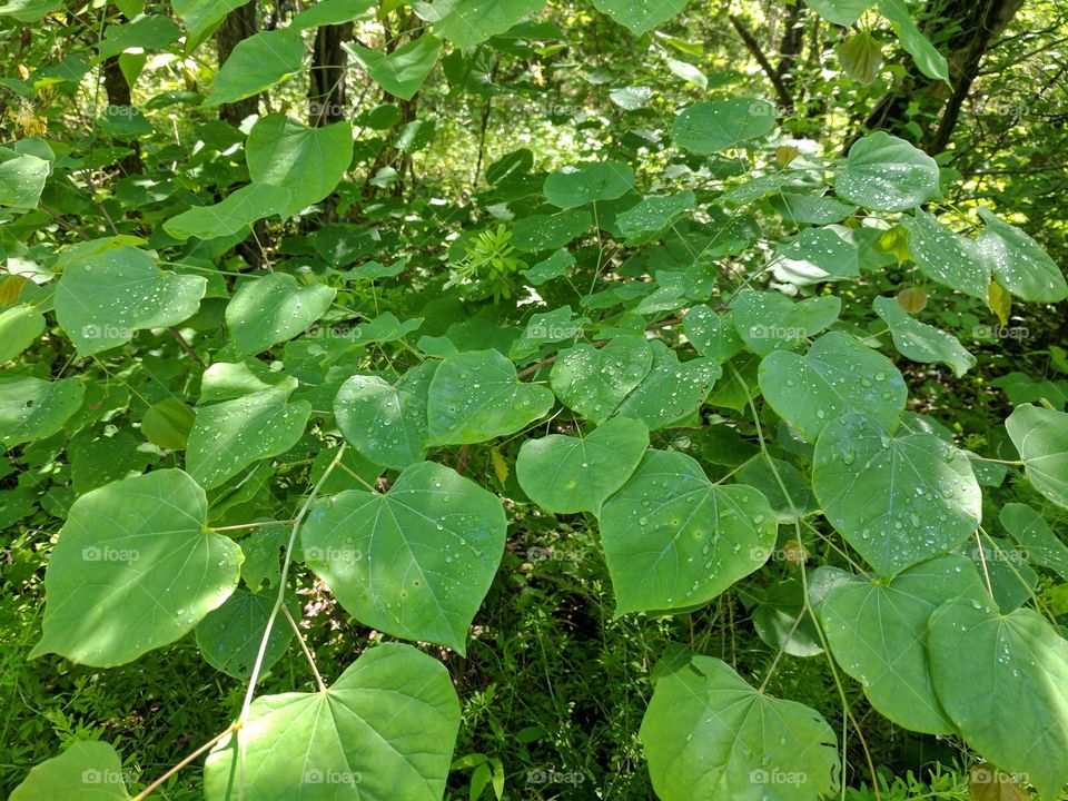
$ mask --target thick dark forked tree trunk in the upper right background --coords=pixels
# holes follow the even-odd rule
[[[904,78],[876,103],[863,122],[863,129],[890,131],[932,155],[945,150],[983,56],[1022,4],[1024,0],[945,0],[938,3],[928,22],[921,23],[921,29],[949,53],[952,89],[922,75],[910,60]],[[921,120],[920,136],[908,126],[910,106],[916,107]],[[862,131],[858,131],[849,145],[861,135]]]

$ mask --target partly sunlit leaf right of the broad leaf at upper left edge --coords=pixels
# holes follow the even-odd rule
[[[288,273],[246,279],[226,306],[226,327],[241,356],[293,339],[329,309],[337,290],[298,286]]]

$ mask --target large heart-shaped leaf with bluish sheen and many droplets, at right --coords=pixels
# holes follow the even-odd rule
[[[827,518],[883,575],[959,545],[982,517],[967,455],[933,434],[851,414],[827,424],[812,464]]]

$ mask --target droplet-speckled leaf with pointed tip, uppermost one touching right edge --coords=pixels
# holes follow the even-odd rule
[[[976,240],[979,255],[1001,286],[1035,303],[1058,303],[1068,297],[1065,274],[1041,245],[990,209],[980,207],[979,216],[987,224]]]

